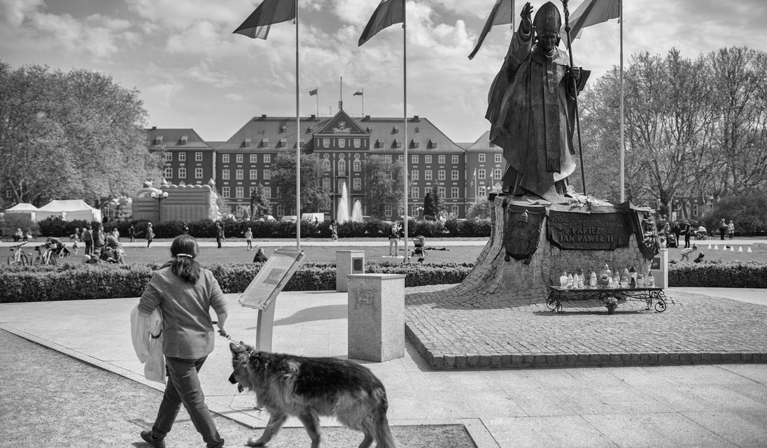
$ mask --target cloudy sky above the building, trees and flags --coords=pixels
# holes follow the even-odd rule
[[[193,128],[202,139],[223,141],[253,116],[295,116],[295,25],[273,25],[266,41],[232,34],[259,3],[0,0],[0,60],[102,71],[140,91],[146,126]],[[336,113],[341,86],[351,116],[403,116],[401,26],[357,47],[378,3],[298,0],[302,116]],[[509,46],[509,25],[493,27],[479,54],[468,55],[494,3],[407,2],[407,115],[430,119],[455,142],[473,142],[489,129],[487,93]],[[543,3],[531,2],[536,11]],[[568,3],[574,11],[581,0]],[[765,0],[625,0],[624,18],[625,64],[632,54],[664,55],[672,47],[690,58],[730,46],[767,51]],[[620,41],[617,19],[584,28],[573,43],[574,64],[595,80],[620,64]],[[309,96],[315,88],[318,96]],[[364,95],[353,96],[357,90]]]

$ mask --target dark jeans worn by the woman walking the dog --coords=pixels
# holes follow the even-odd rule
[[[165,387],[163,402],[157,412],[157,419],[152,427],[154,437],[163,439],[173,428],[176,415],[181,410],[181,404],[189,413],[197,432],[202,434],[202,440],[209,448],[223,446],[224,440],[216,430],[216,423],[210,415],[208,406],[205,404],[205,395],[199,385],[197,372],[202,368],[207,356],[199,359],[171,358],[166,356],[166,365],[170,377]]]

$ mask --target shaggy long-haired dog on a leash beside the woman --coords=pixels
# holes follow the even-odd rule
[[[365,434],[360,448],[373,440],[377,448],[395,448],[386,417],[384,384],[367,368],[337,358],[304,358],[256,352],[242,342],[229,344],[234,371],[229,382],[255,392],[258,406],[269,413],[269,422],[258,440],[249,446],[265,446],[293,415],[304,423],[311,448],[321,442],[319,416],[333,416]]]

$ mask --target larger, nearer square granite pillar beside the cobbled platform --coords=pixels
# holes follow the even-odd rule
[[[349,276],[349,358],[390,361],[405,355],[404,274]]]

